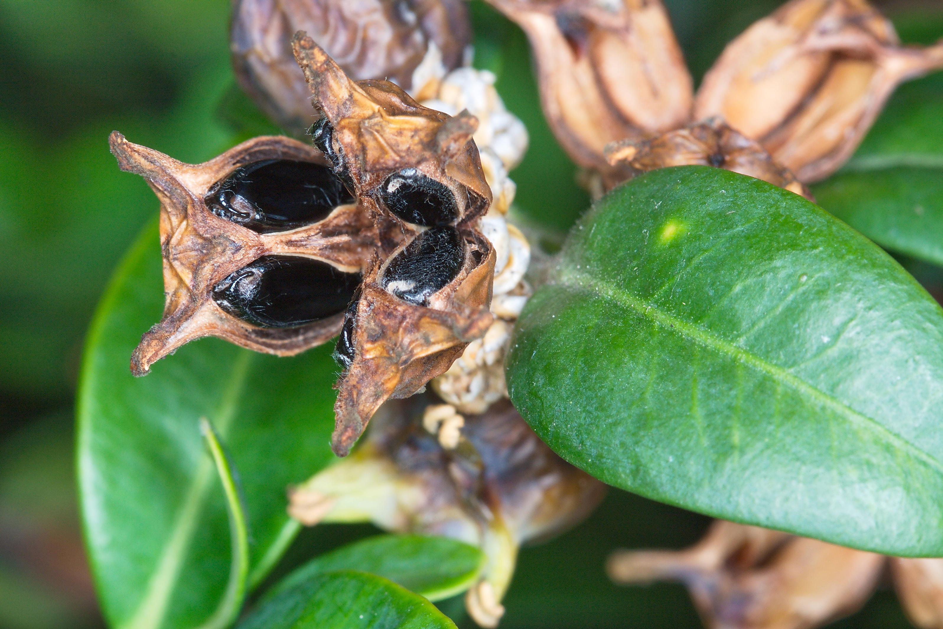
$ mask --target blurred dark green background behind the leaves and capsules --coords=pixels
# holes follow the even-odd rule
[[[666,4],[700,76],[725,41],[778,3]],[[587,196],[542,120],[526,42],[479,0],[472,8],[476,63],[498,74],[507,107],[531,133],[530,152],[512,174],[518,204],[566,228]],[[905,39],[939,35],[928,26],[941,24],[939,2],[888,10]],[[225,0],[0,0],[0,628],[101,625],[74,513],[74,383],[108,276],[157,213],[144,182],[118,171],[108,132],[186,161],[233,143],[240,129],[217,113],[233,85],[227,13]],[[941,293],[935,267],[904,261]],[[521,553],[502,626],[700,626],[680,586],[616,588],[602,566],[616,547],[680,547],[705,524],[611,492],[589,521]],[[279,572],[371,531],[306,531]],[[888,592],[840,624],[907,626]]]

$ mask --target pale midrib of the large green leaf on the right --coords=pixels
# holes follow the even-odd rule
[[[575,285],[572,283],[573,280],[577,282]],[[675,317],[668,312],[663,311],[654,304],[648,304],[644,302],[642,299],[638,298],[631,292],[610,286],[609,284],[601,282],[595,277],[585,273],[578,273],[572,270],[566,270],[562,273],[559,273],[557,275],[557,282],[570,289],[587,290],[588,287],[591,289],[591,291],[596,292],[600,297],[612,300],[621,306],[627,306],[635,310],[642,318],[651,318],[655,323],[661,323],[662,325],[672,327],[679,334],[698,343],[702,347],[721,352],[728,356],[733,356],[736,360],[745,365],[753,367],[754,369],[757,369],[761,372],[766,372],[778,382],[782,382],[793,389],[796,389],[800,393],[806,394],[808,397],[819,401],[819,403],[823,406],[832,408],[838,413],[839,416],[845,418],[847,421],[852,422],[855,425],[864,426],[869,430],[884,436],[887,441],[889,441],[899,450],[910,453],[911,455],[929,465],[936,472],[943,473],[943,463],[936,460],[932,455],[929,455],[923,450],[920,450],[914,443],[890,431],[881,422],[878,422],[874,418],[860,413],[854,410],[851,406],[847,406],[843,402],[836,400],[833,396],[813,387],[802,380],[802,378],[791,372],[788,372],[786,369],[770,363],[768,360],[765,360],[760,356],[756,356],[744,348],[738,347],[734,343],[731,343],[725,339],[720,339],[717,336],[710,335],[702,328],[692,325],[683,319]]]

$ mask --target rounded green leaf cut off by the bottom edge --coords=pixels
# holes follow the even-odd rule
[[[239,629],[455,629],[455,623],[409,590],[367,572],[312,574],[267,600]]]

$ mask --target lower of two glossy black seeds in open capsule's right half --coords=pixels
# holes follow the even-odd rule
[[[455,279],[465,260],[454,227],[433,227],[406,245],[383,273],[384,289],[400,299],[428,306],[429,297]]]

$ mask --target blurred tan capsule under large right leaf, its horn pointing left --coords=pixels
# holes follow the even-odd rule
[[[619,551],[607,571],[617,583],[684,582],[708,627],[809,629],[860,608],[884,565],[883,555],[715,521],[685,551]]]

